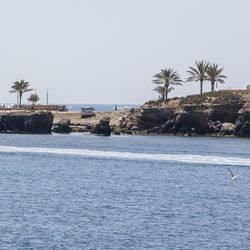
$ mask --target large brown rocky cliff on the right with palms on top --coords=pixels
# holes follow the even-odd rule
[[[206,93],[131,109],[115,133],[250,136],[250,105],[232,93]]]

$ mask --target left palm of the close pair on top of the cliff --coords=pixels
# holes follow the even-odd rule
[[[189,67],[187,73],[190,77],[187,78],[187,82],[200,82],[200,93],[203,93],[203,82],[207,80],[207,69],[210,65],[207,61],[195,62],[196,68]]]

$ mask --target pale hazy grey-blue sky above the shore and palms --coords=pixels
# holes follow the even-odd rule
[[[47,88],[50,103],[143,104],[156,73],[185,80],[196,60],[224,68],[218,89],[244,89],[249,12],[249,0],[0,0],[0,103],[25,79],[43,104]],[[197,93],[185,82],[170,97]]]

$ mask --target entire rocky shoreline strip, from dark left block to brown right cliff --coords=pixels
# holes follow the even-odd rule
[[[206,93],[84,119],[80,112],[1,113],[0,132],[250,137],[250,97]]]

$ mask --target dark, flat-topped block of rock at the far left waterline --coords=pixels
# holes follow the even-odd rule
[[[0,132],[51,133],[53,119],[51,112],[0,114]]]

